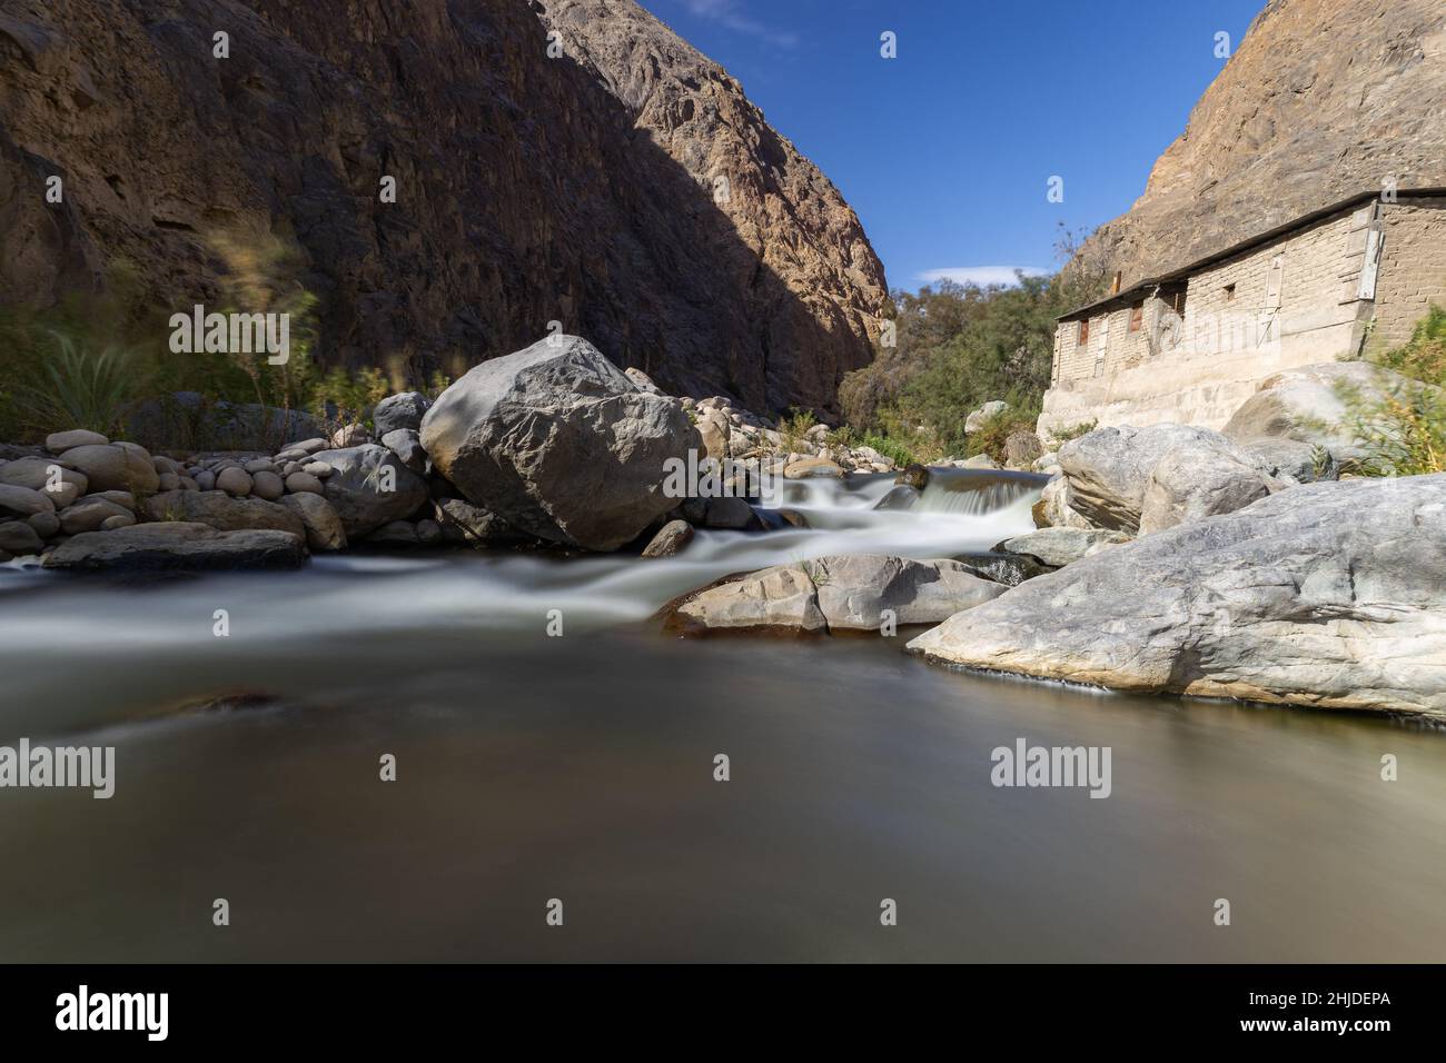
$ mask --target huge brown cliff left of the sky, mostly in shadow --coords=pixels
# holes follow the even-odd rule
[[[268,233],[350,363],[560,321],[668,389],[831,408],[886,307],[837,189],[632,0],[0,0],[0,301],[124,262],[171,312]]]

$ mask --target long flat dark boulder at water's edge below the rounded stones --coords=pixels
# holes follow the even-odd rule
[[[204,524],[137,524],[82,532],[45,555],[46,568],[78,571],[215,571],[296,568],[307,548],[282,531],[221,532]]]

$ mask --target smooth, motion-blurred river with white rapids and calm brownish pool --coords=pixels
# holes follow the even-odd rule
[[[110,800],[0,790],[0,960],[1446,957],[1434,730],[951,673],[908,632],[649,620],[732,571],[988,550],[1032,526],[1040,479],[875,509],[889,486],[785,483],[768,502],[807,529],[667,560],[0,567],[0,745],[116,748]],[[197,707],[223,694],[252,697]],[[1109,746],[1108,800],[993,787],[1019,738]]]

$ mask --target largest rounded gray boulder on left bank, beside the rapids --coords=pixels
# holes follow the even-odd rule
[[[470,502],[538,538],[607,551],[677,505],[665,463],[701,441],[678,401],[639,389],[587,340],[554,336],[442,392],[422,445]]]

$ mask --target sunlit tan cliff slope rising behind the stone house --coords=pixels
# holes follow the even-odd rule
[[[1446,185],[1446,4],[1271,0],[1082,256],[1128,288],[1385,176]]]

